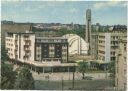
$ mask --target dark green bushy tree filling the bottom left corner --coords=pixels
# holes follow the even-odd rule
[[[13,71],[13,66],[10,64],[1,64],[1,89],[13,89],[15,80],[16,80],[16,72]]]

